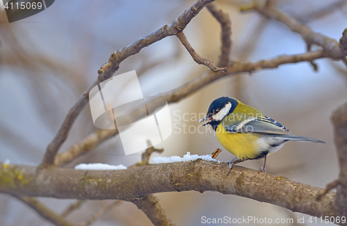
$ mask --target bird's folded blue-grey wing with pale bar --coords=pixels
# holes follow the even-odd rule
[[[257,132],[266,134],[291,134],[284,125],[269,117],[248,118],[232,125],[224,125],[230,133]]]

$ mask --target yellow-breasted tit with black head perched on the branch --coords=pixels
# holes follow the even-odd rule
[[[206,117],[199,121],[202,122],[205,122],[202,126],[211,125],[221,145],[236,155],[228,160],[228,175],[235,162],[247,159],[264,158],[264,166],[260,167],[259,172],[266,172],[266,156],[276,153],[287,141],[325,143],[293,135],[278,121],[228,96],[212,101]]]

